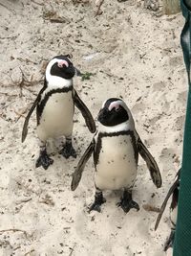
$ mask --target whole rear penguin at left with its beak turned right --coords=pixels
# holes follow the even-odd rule
[[[65,158],[76,157],[72,143],[74,105],[81,111],[89,130],[93,133],[96,131],[92,114],[74,90],[75,74],[80,75],[69,55],[56,56],[47,65],[44,86],[26,117],[22,131],[24,142],[32,111],[36,107],[37,135],[40,140],[40,155],[36,167],[42,166],[46,170],[53,164],[53,159],[46,150],[49,138],[65,136],[66,143],[60,153]]]

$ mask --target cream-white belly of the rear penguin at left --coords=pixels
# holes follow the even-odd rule
[[[37,126],[40,140],[70,136],[73,132],[74,102],[72,91],[54,93],[47,101]]]

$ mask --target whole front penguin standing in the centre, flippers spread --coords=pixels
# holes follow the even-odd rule
[[[104,190],[123,190],[117,205],[126,213],[131,208],[139,210],[138,203],[132,199],[138,153],[146,161],[153,182],[159,188],[161,176],[158,165],[140,140],[132,114],[121,99],[111,98],[103,103],[98,121],[96,135],[75,169],[71,189],[74,191],[77,187],[85,164],[94,151],[96,196],[90,211],[100,212],[100,205],[105,202]]]

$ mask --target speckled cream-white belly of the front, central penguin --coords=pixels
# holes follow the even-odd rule
[[[132,188],[138,164],[135,160],[131,136],[102,138],[102,148],[96,165],[96,187],[100,190]]]

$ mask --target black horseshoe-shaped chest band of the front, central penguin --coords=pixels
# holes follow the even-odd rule
[[[117,132],[112,132],[112,133],[106,133],[106,132],[98,133],[98,137],[97,137],[97,141],[96,141],[96,148],[95,148],[95,151],[94,151],[95,166],[98,163],[99,153],[100,153],[101,148],[102,148],[102,138],[103,137],[121,136],[121,135],[125,135],[125,136],[128,135],[128,136],[131,137],[132,145],[133,145],[134,153],[135,153],[135,159],[136,159],[136,162],[138,163],[138,146],[137,146],[136,137],[134,135],[134,131],[132,131],[132,130],[123,130],[123,131],[117,131]]]

